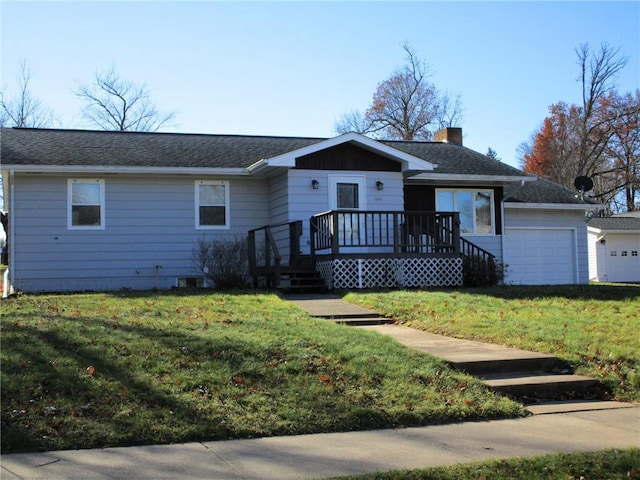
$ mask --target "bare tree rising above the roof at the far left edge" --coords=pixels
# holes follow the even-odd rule
[[[46,128],[54,123],[51,111],[33,97],[29,90],[31,71],[25,60],[20,63],[18,93],[10,97],[0,92],[0,126]]]

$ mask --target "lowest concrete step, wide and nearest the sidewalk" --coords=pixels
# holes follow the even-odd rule
[[[492,390],[525,404],[541,401],[606,399],[607,392],[595,378],[580,375],[523,372],[484,375],[480,379]]]

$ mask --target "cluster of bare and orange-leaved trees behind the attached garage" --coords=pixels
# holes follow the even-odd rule
[[[574,188],[577,176],[592,177],[592,196],[611,211],[637,208],[640,94],[619,95],[615,80],[628,59],[602,44],[576,49],[582,104],[549,107],[526,150],[523,169]]]

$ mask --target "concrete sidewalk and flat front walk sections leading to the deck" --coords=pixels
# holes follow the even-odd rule
[[[293,301],[315,316],[375,314],[331,296],[298,297]],[[449,358],[522,355],[519,350],[422,335],[396,325],[359,328],[393,335],[413,348]],[[3,455],[0,477],[284,480],[640,447],[640,406],[563,402],[529,410],[537,414],[514,420],[406,429]]]

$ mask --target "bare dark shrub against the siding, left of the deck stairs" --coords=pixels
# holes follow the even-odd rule
[[[207,283],[220,290],[245,288],[249,283],[245,238],[201,240],[193,250],[193,261]]]

